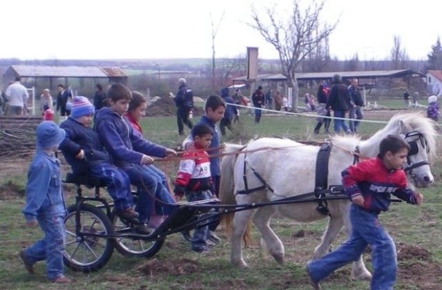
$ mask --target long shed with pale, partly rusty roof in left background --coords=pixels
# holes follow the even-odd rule
[[[89,95],[95,84],[127,84],[128,76],[119,67],[102,66],[10,66],[3,75],[3,86],[8,86],[15,77],[21,77],[26,86],[35,86],[37,92],[43,88],[51,91],[58,84],[72,86],[79,94]]]

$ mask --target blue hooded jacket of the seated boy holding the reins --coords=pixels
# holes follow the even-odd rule
[[[143,155],[164,157],[166,147],[149,142],[133,129],[128,119],[111,108],[97,112],[95,131],[115,166],[130,168],[141,165]]]

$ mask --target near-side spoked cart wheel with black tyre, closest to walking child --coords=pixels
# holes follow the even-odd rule
[[[99,235],[84,235],[83,238],[75,234],[76,205],[68,207],[68,214],[64,218],[66,228],[66,242],[64,249],[64,264],[74,271],[89,273],[104,267],[113,253],[113,240]],[[111,235],[113,225],[108,216],[92,204],[81,204],[80,207],[81,231]]]

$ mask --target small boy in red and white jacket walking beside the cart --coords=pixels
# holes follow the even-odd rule
[[[189,202],[197,200],[209,200],[213,197],[213,182],[210,171],[209,155],[206,153],[209,148],[213,130],[206,124],[196,124],[192,128],[192,137],[195,143],[195,151],[186,152],[182,155],[184,159],[180,162],[180,169],[175,180],[176,200],[186,195]],[[197,253],[208,251],[207,248],[208,226],[195,228],[191,240],[191,249]]]

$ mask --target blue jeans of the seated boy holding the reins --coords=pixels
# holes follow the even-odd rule
[[[147,166],[135,165],[133,167],[123,168],[127,173],[131,184],[137,186],[140,196],[138,197],[135,211],[140,215],[138,219],[141,222],[147,222],[148,218],[154,213],[155,203],[159,204],[160,211],[157,215],[170,215],[175,209],[175,200],[171,197],[166,186],[154,175]]]

